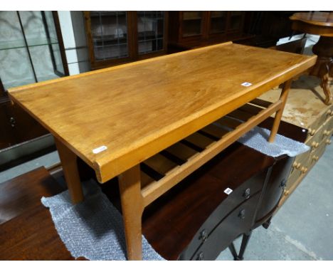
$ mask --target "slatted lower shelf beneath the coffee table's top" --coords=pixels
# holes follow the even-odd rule
[[[152,203],[194,169],[218,155],[281,105],[282,100],[267,103],[255,99],[142,162],[140,177],[144,205]]]

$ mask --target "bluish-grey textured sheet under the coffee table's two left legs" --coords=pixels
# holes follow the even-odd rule
[[[68,190],[53,197],[42,197],[50,208],[60,239],[73,257],[89,260],[126,260],[122,215],[103,194],[96,182],[83,182],[85,200],[73,205]],[[164,260],[142,236],[142,258]]]

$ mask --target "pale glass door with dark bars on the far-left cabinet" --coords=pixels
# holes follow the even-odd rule
[[[0,88],[67,74],[51,11],[0,11]]]

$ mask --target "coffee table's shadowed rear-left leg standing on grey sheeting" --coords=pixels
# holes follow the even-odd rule
[[[67,183],[68,191],[73,204],[83,201],[83,191],[80,182],[80,175],[78,173],[78,157],[68,147],[63,145],[62,142],[56,139],[56,147],[60,157],[60,162],[63,167],[63,174],[65,182]]]

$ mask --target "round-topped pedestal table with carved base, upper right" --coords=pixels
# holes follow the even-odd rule
[[[320,35],[319,41],[312,48],[318,58],[310,75],[320,78],[326,95],[324,103],[330,105],[333,99],[329,90],[333,78],[333,13],[301,12],[290,16],[290,20],[293,30]]]

